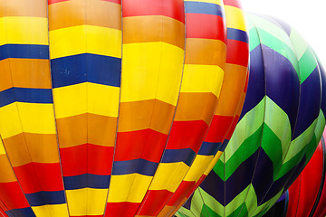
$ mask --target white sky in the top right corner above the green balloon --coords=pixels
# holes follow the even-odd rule
[[[245,11],[291,24],[311,44],[326,70],[326,0],[241,0]]]

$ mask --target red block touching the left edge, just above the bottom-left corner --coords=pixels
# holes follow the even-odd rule
[[[18,182],[1,183],[0,198],[5,203],[5,206],[8,210],[29,207],[29,203],[27,202]]]

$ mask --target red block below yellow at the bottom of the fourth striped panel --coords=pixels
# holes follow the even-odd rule
[[[172,196],[172,193],[168,190],[149,190],[145,198],[140,205],[140,210],[137,215],[144,216],[158,216],[158,213],[168,203],[168,199]]]

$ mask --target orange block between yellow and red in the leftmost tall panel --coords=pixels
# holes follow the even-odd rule
[[[58,145],[54,134],[21,133],[4,139],[13,166],[28,163],[58,163]]]

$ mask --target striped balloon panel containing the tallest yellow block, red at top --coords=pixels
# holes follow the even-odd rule
[[[185,55],[183,1],[124,0],[122,17],[119,127],[105,216],[141,210],[176,113]]]

